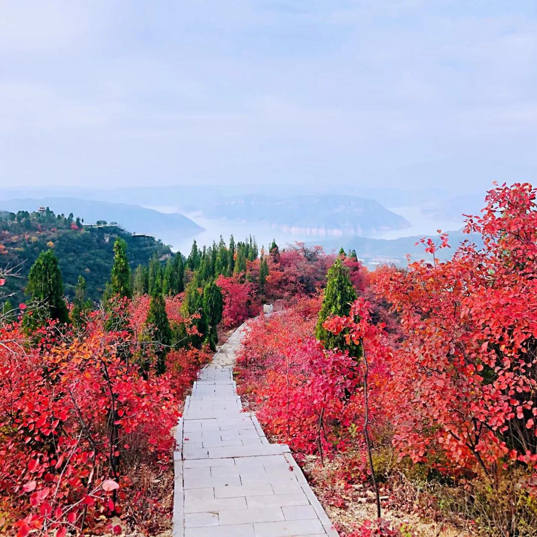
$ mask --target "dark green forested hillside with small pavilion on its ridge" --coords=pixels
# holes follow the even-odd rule
[[[98,301],[110,276],[113,243],[122,237],[127,243],[129,263],[134,268],[158,258],[171,256],[169,246],[149,236],[133,236],[116,225],[84,226],[81,219],[55,215],[52,211],[18,213],[0,212],[0,253],[2,266],[10,266],[20,276],[6,282],[6,290],[14,293],[12,303],[24,302],[26,277],[40,252],[53,249],[60,263],[66,294],[74,297],[77,278],[86,280],[88,297]]]

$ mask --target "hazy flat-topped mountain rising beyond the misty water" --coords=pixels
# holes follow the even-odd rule
[[[405,229],[410,223],[379,202],[344,195],[239,195],[206,206],[204,216],[226,218],[315,237],[362,236]]]

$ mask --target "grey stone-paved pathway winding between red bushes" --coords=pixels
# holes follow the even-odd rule
[[[289,448],[242,412],[233,380],[244,325],[194,382],[177,427],[173,537],[338,537]]]

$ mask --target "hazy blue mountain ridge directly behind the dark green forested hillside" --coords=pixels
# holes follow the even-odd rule
[[[83,218],[85,224],[97,220],[117,222],[133,233],[157,235],[164,242],[177,234],[194,236],[203,231],[201,226],[182,214],[164,214],[136,205],[52,197],[0,200],[0,209],[15,213],[23,210],[37,211],[40,206],[49,207],[56,214],[73,213],[75,217]]]

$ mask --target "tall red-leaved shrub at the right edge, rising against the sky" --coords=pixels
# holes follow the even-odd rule
[[[384,269],[379,292],[401,317],[388,412],[401,455],[490,471],[537,463],[537,207],[528,184],[495,188],[453,260]],[[387,401],[389,403],[389,401]]]

